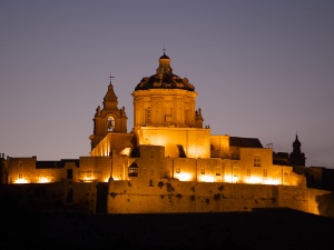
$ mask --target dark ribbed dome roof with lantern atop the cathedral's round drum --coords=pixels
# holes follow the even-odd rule
[[[195,91],[195,87],[187,78],[180,78],[173,73],[170,68],[170,59],[165,53],[159,58],[159,67],[157,73],[141,79],[135,88],[136,90],[148,89],[184,89]]]

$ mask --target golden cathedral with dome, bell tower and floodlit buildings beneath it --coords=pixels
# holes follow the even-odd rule
[[[104,107],[94,117],[91,157],[114,159],[114,180],[303,182],[292,167],[273,164],[273,150],[258,139],[210,134],[210,128],[203,127],[202,109],[196,109],[197,94],[187,78],[173,73],[164,53],[156,73],[143,78],[131,93],[134,129],[127,133],[125,108],[117,107],[110,81]]]

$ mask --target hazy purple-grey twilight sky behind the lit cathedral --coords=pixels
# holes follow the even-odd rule
[[[131,92],[171,59],[213,134],[258,138],[334,168],[333,0],[1,0],[0,152],[88,156],[110,73]]]

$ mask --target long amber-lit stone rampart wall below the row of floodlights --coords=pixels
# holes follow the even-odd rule
[[[222,212],[285,207],[320,214],[306,187],[160,180],[109,181],[108,213]]]

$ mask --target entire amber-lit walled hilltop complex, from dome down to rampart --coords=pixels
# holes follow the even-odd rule
[[[273,152],[257,138],[212,134],[203,126],[205,113],[196,107],[194,84],[174,74],[165,52],[156,73],[144,77],[131,93],[130,132],[111,79],[92,119],[89,157],[60,161],[9,158],[3,179],[8,183],[66,183],[63,203],[76,201],[73,183],[105,183],[108,213],[249,211],[258,207],[318,213],[315,197],[326,191],[308,189],[287,153]],[[305,167],[297,137],[291,159]]]

